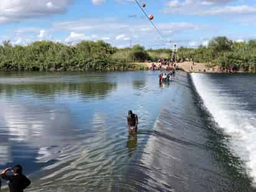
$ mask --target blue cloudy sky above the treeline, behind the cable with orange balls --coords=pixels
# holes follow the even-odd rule
[[[123,48],[198,47],[217,36],[256,39],[256,0],[1,0],[0,42],[75,44],[104,40]]]

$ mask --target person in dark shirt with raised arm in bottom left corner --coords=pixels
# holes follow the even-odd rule
[[[11,174],[6,174],[9,171]],[[22,174],[21,165],[15,165],[14,168],[6,168],[2,170],[1,177],[9,181],[8,186],[10,192],[23,192],[30,185],[30,180]]]

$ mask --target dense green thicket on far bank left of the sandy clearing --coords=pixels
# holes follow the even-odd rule
[[[129,63],[114,58],[117,48],[103,41],[83,41],[75,46],[62,43],[34,42],[12,46],[9,41],[0,47],[1,70],[126,70]]]

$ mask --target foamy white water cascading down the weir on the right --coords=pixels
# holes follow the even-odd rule
[[[245,109],[247,101],[205,74],[191,74],[194,86],[214,121],[231,136],[230,147],[245,163],[256,184],[256,115]]]

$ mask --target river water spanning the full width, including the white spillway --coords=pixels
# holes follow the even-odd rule
[[[27,191],[255,191],[256,76],[158,73],[0,73],[0,168]]]

